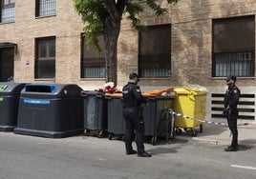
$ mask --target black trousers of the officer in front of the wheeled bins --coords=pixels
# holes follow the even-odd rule
[[[123,109],[123,116],[125,118],[125,149],[126,151],[132,151],[132,142],[134,138],[134,132],[136,131],[136,144],[137,152],[139,154],[144,152],[144,119],[142,114],[134,108]]]

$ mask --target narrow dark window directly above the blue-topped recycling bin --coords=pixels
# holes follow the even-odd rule
[[[55,37],[35,39],[35,78],[55,77]]]

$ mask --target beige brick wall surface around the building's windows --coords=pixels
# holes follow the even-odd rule
[[[18,44],[15,78],[22,82],[34,81],[34,38],[56,36],[56,82],[101,87],[103,79],[80,79],[80,33],[83,24],[74,10],[73,1],[56,2],[56,16],[35,18],[33,1],[17,1],[15,23],[0,26],[1,41]],[[165,1],[161,3],[167,6]],[[172,77],[144,79],[141,86],[223,85],[223,79],[211,77],[211,21],[255,14],[254,1],[181,0],[176,5],[168,5],[168,9],[169,13],[160,17],[156,17],[151,10],[146,10],[141,17],[145,25],[172,25]],[[138,70],[138,32],[125,18],[119,35],[117,58],[117,83],[122,86],[127,81],[127,74]],[[254,78],[240,81],[243,85],[255,85]]]

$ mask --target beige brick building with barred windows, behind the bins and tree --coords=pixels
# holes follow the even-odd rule
[[[81,75],[81,33],[84,25],[75,12],[72,0],[51,1],[50,10],[53,11],[50,12],[44,11],[49,10],[49,7],[44,5],[46,3],[44,0],[10,0],[7,4],[0,2],[2,4],[1,81],[13,76],[14,81],[17,82],[53,83],[54,81],[75,83],[83,89],[102,88],[105,83],[104,78]],[[129,21],[123,18],[117,45],[118,87],[121,88],[126,83],[130,71],[143,74],[139,84],[143,90],[200,85],[209,90],[206,118],[214,119],[213,114],[220,113],[218,108],[221,107],[218,106],[218,102],[215,103],[222,100],[218,98],[218,94],[224,93],[226,88],[225,76],[232,73],[238,76],[237,84],[242,93],[246,94],[242,101],[248,102],[240,107],[245,109],[241,112],[244,116],[242,118],[247,119],[246,116],[250,116],[250,119],[254,119],[255,0],[180,0],[176,5],[167,5],[165,1],[160,3],[169,9],[169,13],[156,17],[150,10],[146,10],[141,17],[146,26],[170,27],[170,68],[165,71],[168,74],[144,75],[143,71],[146,69],[143,68],[143,64],[140,71],[139,54],[143,50],[141,43],[143,36],[139,37],[138,31],[133,30]],[[219,35],[222,30],[229,40],[224,41]],[[234,40],[236,38],[231,38],[234,41],[230,40],[230,37],[239,36],[241,33],[250,35],[238,37],[237,39],[240,40]],[[54,66],[51,66],[54,71],[45,77],[42,73],[47,73],[47,70],[43,72],[38,70],[40,64],[36,64],[36,60],[40,60],[41,57],[41,60],[44,60],[44,56],[40,56],[38,47],[42,47],[41,43],[49,38],[55,45]],[[237,45],[232,46],[232,44]],[[6,62],[8,53],[6,50],[13,50],[13,55],[8,55],[8,62]],[[233,59],[237,61],[223,61],[227,58],[224,55],[230,56],[230,53],[235,53],[236,57]],[[241,57],[243,55],[244,57]],[[242,61],[239,61],[241,59]],[[229,69],[226,64],[230,65]],[[155,67],[158,69],[158,66]],[[49,77],[49,75],[53,76]]]

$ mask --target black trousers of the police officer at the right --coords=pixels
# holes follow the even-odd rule
[[[237,117],[238,117],[238,109],[228,110],[226,119],[227,119],[228,128],[232,133],[231,147],[238,146]]]

